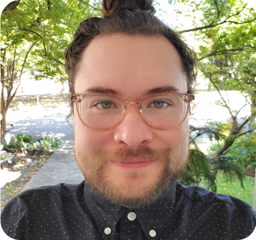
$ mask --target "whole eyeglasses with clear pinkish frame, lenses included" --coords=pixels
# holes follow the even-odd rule
[[[91,129],[108,130],[126,116],[127,105],[137,103],[142,120],[153,129],[173,129],[185,120],[189,103],[195,99],[187,93],[152,94],[142,99],[123,99],[113,94],[86,93],[72,95],[78,116]]]

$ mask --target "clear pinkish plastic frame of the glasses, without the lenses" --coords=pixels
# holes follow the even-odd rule
[[[151,124],[149,124],[146,119],[144,118],[143,116],[143,112],[142,112],[142,105],[144,103],[144,101],[147,99],[147,98],[150,98],[150,97],[155,97],[155,96],[166,96],[166,95],[169,95],[169,94],[172,94],[172,95],[176,95],[176,96],[179,96],[180,98],[183,99],[184,101],[184,104],[185,104],[185,114],[184,114],[184,117],[183,117],[183,120],[181,121],[181,123],[179,123],[178,125],[176,126],[173,126],[173,127],[168,127],[168,128],[159,128],[159,127],[154,127],[152,126]],[[82,115],[81,115],[81,109],[80,109],[80,104],[82,102],[83,99],[87,98],[87,97],[91,97],[91,96],[111,96],[113,98],[117,98],[121,103],[123,103],[123,114],[122,114],[122,117],[120,118],[119,122],[117,124],[115,124],[114,126],[111,126],[111,127],[108,127],[108,128],[93,128],[93,127],[90,127],[86,124],[86,122],[83,120],[82,118]],[[79,119],[81,120],[81,122],[88,128],[91,128],[91,129],[95,129],[95,130],[101,130],[101,131],[104,131],[104,130],[110,130],[110,129],[113,129],[114,127],[118,126],[125,118],[126,116],[126,112],[127,112],[127,105],[129,103],[137,103],[138,104],[138,107],[139,107],[139,111],[140,111],[140,116],[142,118],[142,120],[146,123],[146,125],[148,125],[149,127],[153,128],[153,129],[158,129],[158,130],[164,130],[164,129],[174,129],[178,126],[180,126],[183,121],[186,119],[187,117],[187,113],[188,113],[188,109],[189,109],[189,103],[191,101],[193,101],[195,99],[195,95],[192,95],[192,94],[187,94],[187,93],[180,93],[180,92],[174,92],[174,93],[161,93],[161,94],[152,94],[152,95],[148,95],[142,99],[123,99],[117,95],[114,95],[114,94],[101,94],[101,93],[85,93],[85,94],[74,94],[71,96],[71,101],[73,101],[76,105],[76,109],[77,109],[77,112],[78,112],[78,116],[79,116]]]

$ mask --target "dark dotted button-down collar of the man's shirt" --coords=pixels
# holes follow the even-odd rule
[[[175,203],[176,183],[170,184],[164,196],[155,203],[139,209],[128,209],[124,206],[117,206],[107,200],[103,195],[96,194],[85,180],[84,198],[104,240],[109,240],[115,234],[116,224],[125,212],[135,212],[142,229],[148,239],[150,230],[155,230],[158,236],[172,213]],[[104,230],[110,227],[111,233],[106,235]],[[156,239],[156,238],[154,238]]]

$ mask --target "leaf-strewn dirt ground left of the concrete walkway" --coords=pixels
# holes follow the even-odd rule
[[[47,162],[52,153],[47,155],[22,155],[14,154],[15,161],[10,166],[4,167],[3,171],[20,172],[21,175],[16,180],[6,183],[1,188],[1,211],[3,206],[14,196],[16,196],[26,183],[39,171]]]

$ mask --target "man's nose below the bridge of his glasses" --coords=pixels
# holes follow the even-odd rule
[[[153,139],[153,129],[141,119],[138,104],[129,103],[126,116],[115,128],[114,141],[118,144],[124,142],[130,147],[148,144]]]

